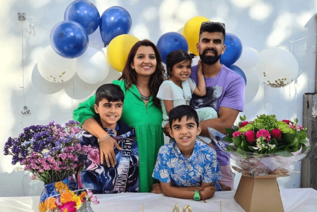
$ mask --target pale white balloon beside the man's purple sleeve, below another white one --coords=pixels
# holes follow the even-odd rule
[[[248,104],[259,91],[260,82],[256,76],[255,68],[243,69],[245,77],[247,78],[247,85],[245,86],[244,104]]]

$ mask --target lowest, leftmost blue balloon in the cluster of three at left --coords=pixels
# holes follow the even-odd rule
[[[61,21],[50,34],[54,51],[64,58],[77,58],[88,47],[88,35],[84,27],[74,21]]]

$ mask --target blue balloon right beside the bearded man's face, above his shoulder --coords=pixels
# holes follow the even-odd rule
[[[236,35],[226,33],[224,45],[226,45],[226,50],[223,55],[221,55],[220,63],[229,67],[240,58],[242,54],[242,43]]]

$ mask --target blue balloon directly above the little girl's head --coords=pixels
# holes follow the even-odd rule
[[[166,56],[174,50],[188,51],[188,43],[186,38],[177,32],[167,32],[163,34],[158,43],[159,53],[163,63],[166,63]]]

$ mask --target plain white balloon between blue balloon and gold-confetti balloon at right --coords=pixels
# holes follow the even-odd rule
[[[259,53],[255,49],[245,47],[242,49],[242,54],[234,65],[238,66],[241,69],[252,68],[256,65],[259,58]]]

